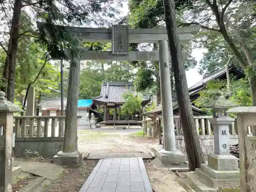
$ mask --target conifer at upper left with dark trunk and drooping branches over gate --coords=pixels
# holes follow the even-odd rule
[[[21,36],[35,36],[35,30],[21,32],[23,20],[22,11],[32,10],[34,17],[45,22],[45,25],[39,26],[47,30],[41,30],[37,36],[40,44],[47,46],[47,50],[52,57],[64,58],[63,48],[69,48],[76,55],[79,51],[76,49],[78,41],[72,38],[68,31],[61,25],[82,25],[94,22],[96,24],[105,24],[105,20],[99,18],[114,17],[117,12],[111,5],[117,1],[80,1],[74,2],[70,0],[52,0],[52,1],[27,1],[14,0],[13,2],[1,1],[0,11],[3,24],[9,28],[4,33],[7,40],[7,45],[0,42],[0,46],[6,52],[6,62],[4,68],[4,87],[2,88],[7,93],[7,98],[14,101],[15,88],[15,68],[16,55],[18,51],[18,42]],[[119,1],[118,1],[119,2]],[[98,14],[98,13],[101,14]],[[10,15],[12,18],[10,19]],[[58,24],[59,26],[54,26]]]

